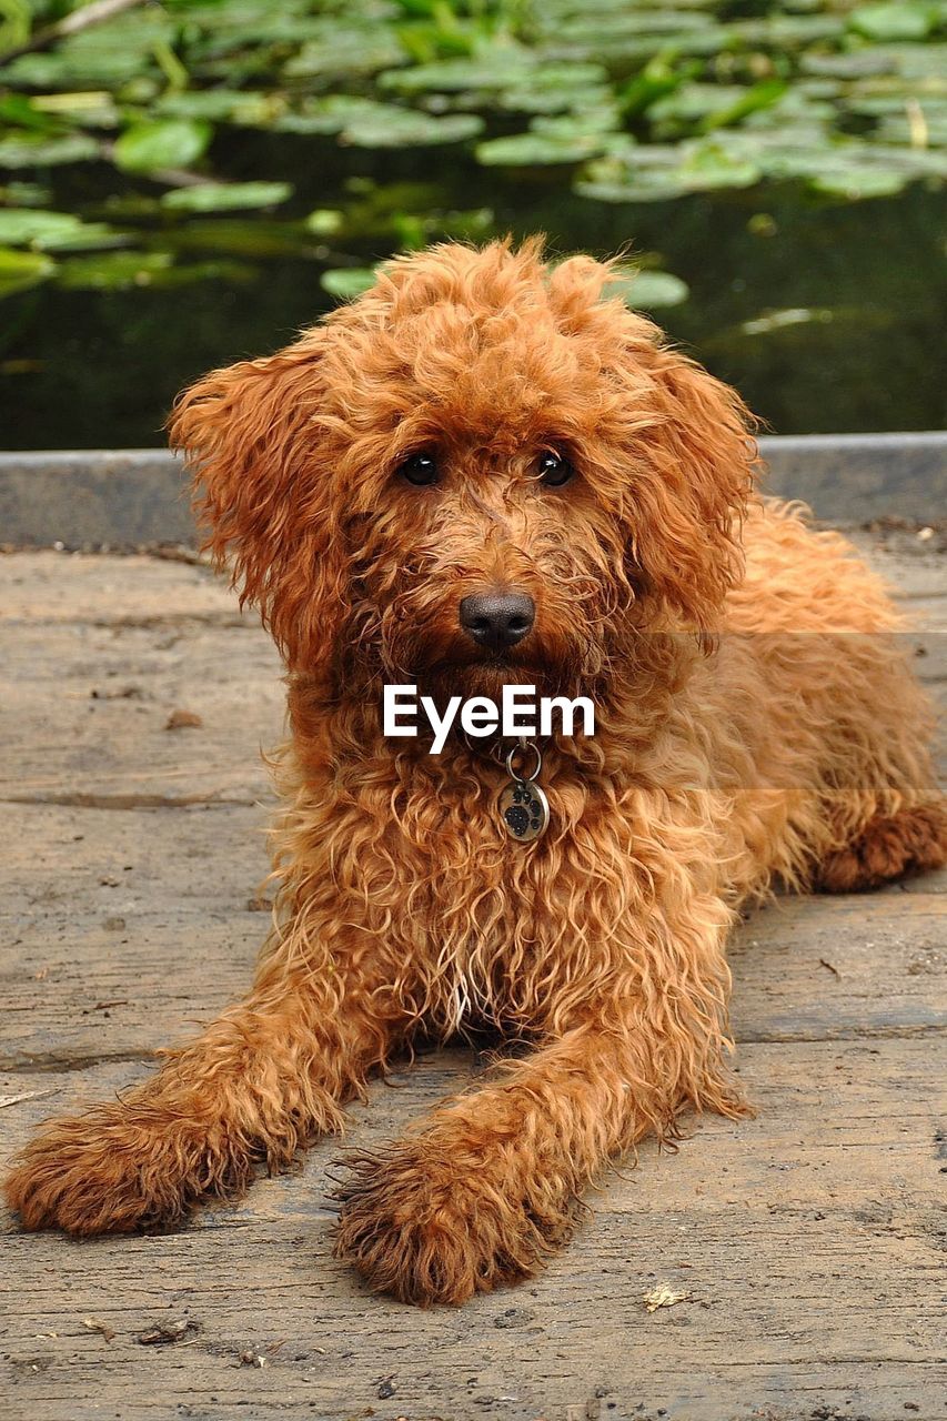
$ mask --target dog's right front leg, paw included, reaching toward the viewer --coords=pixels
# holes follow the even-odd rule
[[[505,1063],[417,1135],[350,1160],[337,1256],[374,1289],[422,1306],[529,1276],[567,1239],[599,1168],[643,1135],[673,1130],[702,1046],[692,1043],[694,1060],[687,1046],[674,1061],[648,1059],[647,1033],[641,1020],[576,1027]],[[698,1103],[741,1113],[722,1077],[707,1096]]]

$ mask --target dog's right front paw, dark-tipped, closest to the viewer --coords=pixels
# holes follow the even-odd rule
[[[529,1277],[570,1232],[567,1205],[530,1204],[496,1161],[471,1167],[424,1137],[346,1164],[336,1256],[405,1303],[462,1303]]]

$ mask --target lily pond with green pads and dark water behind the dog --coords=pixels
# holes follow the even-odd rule
[[[634,239],[783,432],[947,421],[947,0],[105,6],[0,0],[7,445],[161,442],[390,253],[535,230]]]

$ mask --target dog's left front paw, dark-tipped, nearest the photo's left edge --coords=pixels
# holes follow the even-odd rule
[[[233,1162],[206,1130],[158,1111],[100,1106],[47,1125],[4,1192],[27,1229],[92,1235],[173,1223],[200,1195],[233,1185]]]

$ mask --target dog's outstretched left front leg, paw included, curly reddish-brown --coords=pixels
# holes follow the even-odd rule
[[[340,962],[293,953],[290,936],[246,1000],[151,1080],[47,1124],[6,1181],[23,1223],[77,1235],[171,1223],[200,1198],[243,1192],[257,1162],[279,1168],[338,1131],[404,1017],[364,956],[347,980]]]

